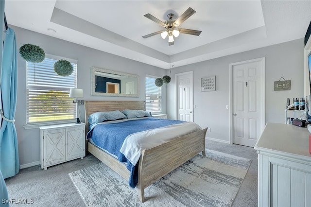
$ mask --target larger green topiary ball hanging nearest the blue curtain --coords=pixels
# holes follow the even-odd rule
[[[39,46],[25,44],[19,48],[19,54],[26,61],[41,63],[45,58],[45,52]]]

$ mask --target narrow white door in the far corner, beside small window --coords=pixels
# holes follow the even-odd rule
[[[176,74],[177,80],[177,119],[193,121],[193,81],[192,71]]]

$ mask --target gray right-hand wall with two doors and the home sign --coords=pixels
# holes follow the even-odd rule
[[[193,109],[194,122],[201,127],[210,127],[207,138],[229,142],[229,64],[265,57],[265,122],[285,122],[286,99],[291,103],[294,97],[304,95],[304,42],[298,39],[282,44],[241,52],[221,58],[199,62],[172,69],[171,83],[175,74],[193,71]],[[216,75],[216,91],[201,92],[201,77]],[[274,81],[281,77],[291,80],[291,90],[274,91]],[[175,119],[175,86],[167,86],[167,113]]]

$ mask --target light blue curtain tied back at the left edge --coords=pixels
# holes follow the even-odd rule
[[[3,21],[1,19],[2,27]],[[14,125],[17,102],[17,50],[15,32],[11,28],[5,31],[1,66],[0,171],[5,179],[19,171],[17,133]]]

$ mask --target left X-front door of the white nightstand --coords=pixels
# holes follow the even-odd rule
[[[65,129],[46,130],[43,133],[44,166],[57,164],[66,160]]]

